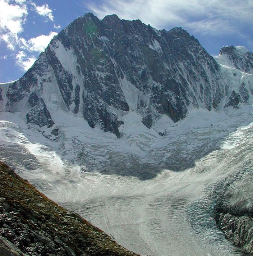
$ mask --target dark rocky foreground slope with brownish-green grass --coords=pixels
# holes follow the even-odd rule
[[[0,162],[0,255],[136,255]]]

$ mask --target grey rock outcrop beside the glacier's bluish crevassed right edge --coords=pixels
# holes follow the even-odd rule
[[[217,225],[228,240],[250,255],[253,254],[252,175],[252,170],[245,168],[223,181],[215,198]]]

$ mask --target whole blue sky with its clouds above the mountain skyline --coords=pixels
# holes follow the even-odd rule
[[[225,45],[253,51],[253,0],[0,0],[0,82],[20,78],[54,35],[87,12],[183,27],[211,55]]]

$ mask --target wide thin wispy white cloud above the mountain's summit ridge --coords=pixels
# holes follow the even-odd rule
[[[203,34],[236,33],[240,25],[252,26],[253,1],[244,0],[105,0],[88,7],[99,18],[117,14],[140,19],[158,29],[184,27]]]

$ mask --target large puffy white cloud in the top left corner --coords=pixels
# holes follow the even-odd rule
[[[14,50],[18,44],[18,35],[23,31],[28,14],[24,1],[0,0],[0,40],[6,42],[9,49]]]

